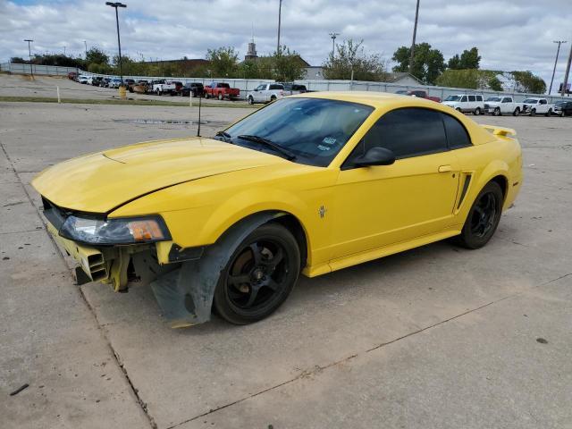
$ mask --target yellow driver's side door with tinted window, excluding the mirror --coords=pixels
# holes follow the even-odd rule
[[[395,163],[352,166],[353,157],[375,146],[391,149]],[[401,108],[384,114],[341,167],[332,258],[445,230],[453,223],[458,171],[441,113]]]

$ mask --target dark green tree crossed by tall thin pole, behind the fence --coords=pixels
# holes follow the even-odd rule
[[[411,48],[400,46],[392,56],[392,60],[398,63],[393,67],[393,71],[409,71],[409,57]],[[413,55],[413,67],[409,71],[417,79],[433,85],[437,77],[445,70],[445,60],[442,52],[432,49],[428,43],[420,43],[415,46]]]

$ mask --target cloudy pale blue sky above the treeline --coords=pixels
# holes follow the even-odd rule
[[[125,0],[120,9],[122,53],[133,58],[204,58],[208,48],[233,46],[240,57],[252,37],[258,55],[276,48],[279,0]],[[337,41],[364,40],[369,53],[391,62],[409,46],[416,0],[283,0],[281,41],[308,63],[321,65]],[[572,0],[421,0],[417,42],[442,51],[445,60],[473,46],[481,68],[530,70],[550,85],[557,45],[555,86],[563,80],[572,45]],[[0,61],[33,53],[85,55],[98,46],[117,52],[114,9],[105,0],[0,0]],[[64,47],[65,46],[65,47]],[[391,65],[391,63],[390,63]]]

